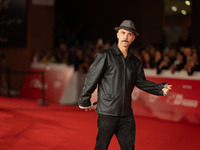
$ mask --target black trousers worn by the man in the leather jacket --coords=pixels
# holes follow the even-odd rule
[[[113,135],[116,135],[121,150],[134,150],[134,116],[116,117],[99,114],[95,150],[107,150]]]

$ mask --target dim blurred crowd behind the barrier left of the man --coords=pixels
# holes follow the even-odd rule
[[[36,49],[33,54],[33,63],[65,63],[73,65],[75,71],[86,73],[95,54],[109,47],[110,44],[103,44],[102,39],[98,39],[96,44],[88,44],[85,48],[68,47],[65,43],[61,43],[51,51]]]

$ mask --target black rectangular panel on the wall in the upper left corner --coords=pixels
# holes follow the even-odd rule
[[[0,46],[26,46],[26,0],[2,0],[0,8]]]

